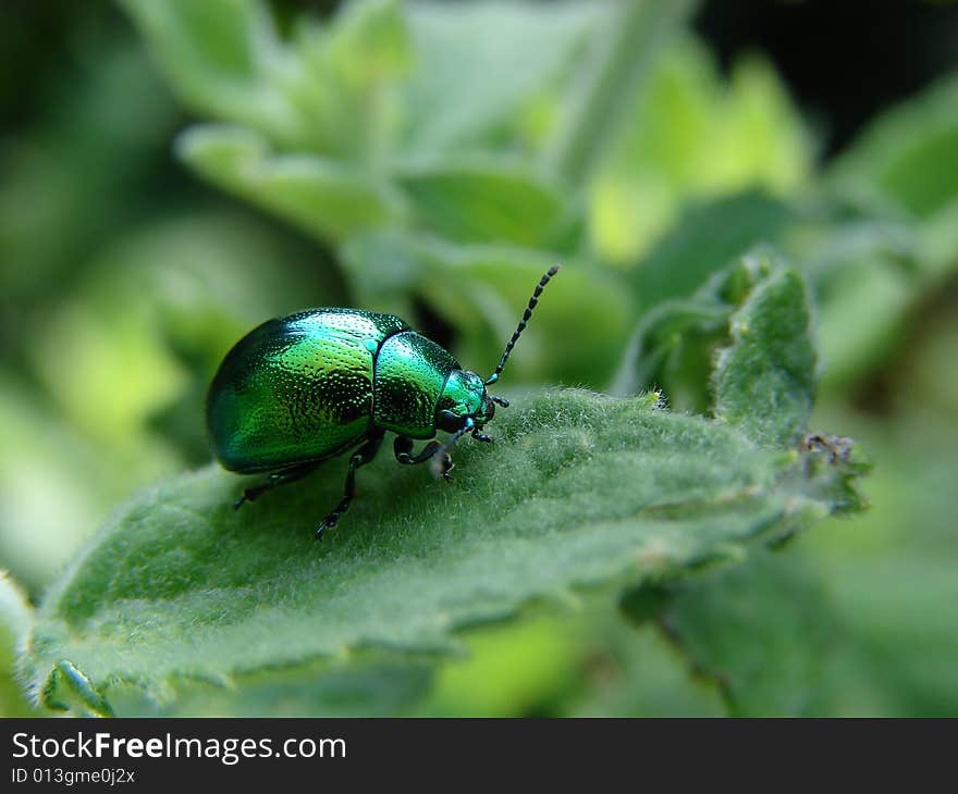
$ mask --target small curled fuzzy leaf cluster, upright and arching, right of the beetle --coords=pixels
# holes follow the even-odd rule
[[[789,447],[808,430],[816,365],[803,277],[757,251],[648,312],[614,390],[661,385],[671,405],[711,408],[757,444]]]

